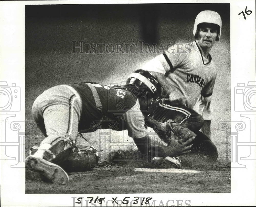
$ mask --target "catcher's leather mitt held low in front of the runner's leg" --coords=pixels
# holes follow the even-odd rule
[[[186,142],[192,137],[196,137],[196,134],[191,130],[184,128],[174,120],[168,119],[164,123],[164,130],[159,131],[157,135],[167,143],[167,146],[169,146],[172,134],[174,139],[176,139],[180,144]]]

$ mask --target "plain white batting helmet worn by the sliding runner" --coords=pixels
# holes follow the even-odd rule
[[[199,24],[201,23],[211,23],[215,24],[218,27],[218,33],[217,33],[217,38],[216,40],[219,41],[220,35],[221,35],[221,17],[219,13],[216,11],[211,11],[211,10],[205,10],[201,11],[197,16],[194,24],[194,29],[193,29],[193,35],[194,38],[196,38],[196,35],[199,31]]]

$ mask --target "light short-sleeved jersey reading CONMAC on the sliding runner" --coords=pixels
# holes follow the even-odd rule
[[[187,100],[187,107],[193,108],[200,96],[203,102],[210,102],[216,79],[216,66],[211,55],[204,58],[197,45],[174,44],[167,51],[148,61],[144,70],[165,75],[166,80],[180,91]],[[207,104],[209,105],[209,103]],[[210,120],[211,107],[205,107],[205,120]],[[200,111],[202,114],[202,110]]]

